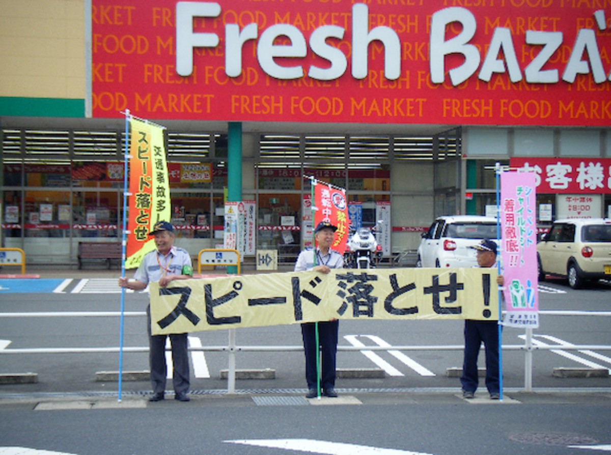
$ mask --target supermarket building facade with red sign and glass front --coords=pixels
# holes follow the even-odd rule
[[[496,163],[540,227],[609,216],[611,0],[0,0],[2,246],[76,263],[117,242],[124,113],[166,127],[177,243],[222,243],[229,123],[255,245],[291,262],[308,177],[346,188],[386,257],[437,215],[492,213]]]

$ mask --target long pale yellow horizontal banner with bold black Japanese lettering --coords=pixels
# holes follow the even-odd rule
[[[498,320],[495,268],[336,269],[150,284],[156,335],[333,318]]]

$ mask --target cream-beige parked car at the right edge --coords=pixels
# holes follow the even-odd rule
[[[611,219],[556,220],[536,246],[539,281],[566,276],[569,286],[611,279]]]

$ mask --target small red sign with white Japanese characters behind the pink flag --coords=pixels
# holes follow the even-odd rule
[[[534,172],[538,194],[611,194],[611,159],[512,158],[510,167]]]

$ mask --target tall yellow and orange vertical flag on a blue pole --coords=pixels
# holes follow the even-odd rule
[[[163,127],[132,118],[130,141],[130,198],[125,268],[136,268],[155,249],[148,237],[157,221],[170,221],[170,185],[167,176]]]

